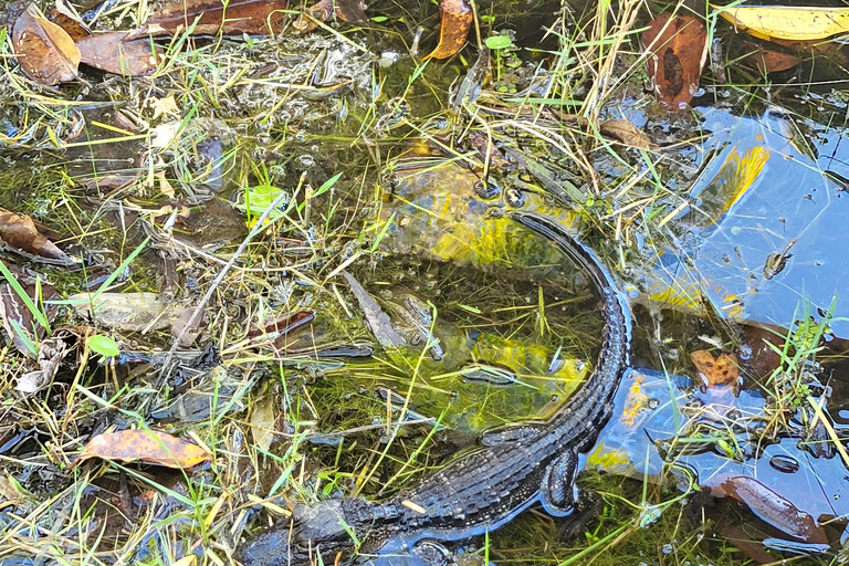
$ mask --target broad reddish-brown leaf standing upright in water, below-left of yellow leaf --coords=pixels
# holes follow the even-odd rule
[[[690,104],[708,57],[704,23],[689,14],[662,13],[642,33],[642,45],[652,54],[649,76],[658,99],[674,108]]]

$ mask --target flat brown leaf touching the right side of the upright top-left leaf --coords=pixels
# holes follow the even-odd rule
[[[94,33],[76,42],[83,63],[107,73],[142,76],[153,73],[164,56],[161,48],[150,49],[146,39],[124,41],[126,31]]]

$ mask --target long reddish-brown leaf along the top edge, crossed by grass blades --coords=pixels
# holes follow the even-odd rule
[[[186,0],[164,6],[140,28],[129,32],[124,41],[147,35],[174,35],[197,21],[193,35],[248,33],[268,35],[283,28],[287,0]]]

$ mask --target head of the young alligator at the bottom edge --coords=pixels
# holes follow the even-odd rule
[[[361,499],[319,501],[297,505],[292,517],[260,533],[245,543],[237,555],[244,566],[310,566],[334,564],[350,558],[356,537],[368,533],[380,509]]]

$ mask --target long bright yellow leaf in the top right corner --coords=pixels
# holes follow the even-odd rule
[[[762,39],[811,41],[849,32],[849,8],[714,7],[736,28]]]

